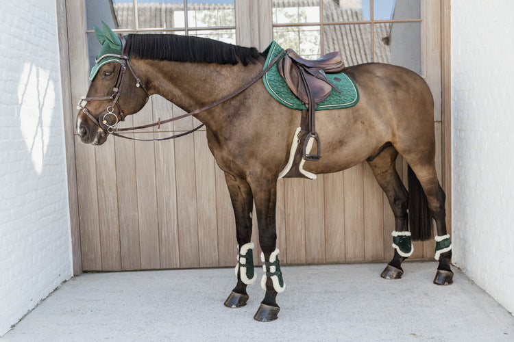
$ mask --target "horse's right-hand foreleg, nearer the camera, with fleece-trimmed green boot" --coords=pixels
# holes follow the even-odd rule
[[[278,252],[276,248],[276,180],[265,181],[260,179],[254,189],[255,207],[259,228],[259,244],[262,249],[261,260],[264,263],[265,274],[262,276],[261,286],[265,289],[264,300],[260,303],[254,319],[258,321],[273,321],[277,319],[280,308],[276,302],[277,293],[284,291],[284,279],[280,271]]]

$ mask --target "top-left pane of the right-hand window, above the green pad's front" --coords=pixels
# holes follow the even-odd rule
[[[319,23],[319,0],[273,0],[273,24]]]

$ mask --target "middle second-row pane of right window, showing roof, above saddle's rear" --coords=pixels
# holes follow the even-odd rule
[[[326,25],[323,54],[341,51],[345,66],[371,62],[371,25]]]

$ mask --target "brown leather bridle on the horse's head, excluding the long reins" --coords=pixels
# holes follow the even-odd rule
[[[118,100],[119,100],[119,96],[121,95],[121,87],[123,86],[123,77],[125,77],[125,71],[127,70],[127,66],[128,66],[128,69],[130,70],[130,73],[132,73],[132,75],[136,79],[136,87],[138,87],[138,88],[140,87],[145,91],[145,93],[147,95],[147,98],[146,98],[147,102],[148,102],[148,98],[149,98],[149,94],[148,94],[145,86],[143,86],[143,83],[141,83],[141,80],[139,79],[139,77],[136,76],[136,74],[134,73],[134,70],[132,70],[132,67],[129,64],[129,57],[128,57],[128,51],[127,51],[127,40],[125,40],[125,37],[119,37],[119,40],[121,42],[121,54],[120,55],[117,55],[116,53],[108,53],[106,55],[102,55],[102,56],[98,57],[97,60],[95,61],[98,63],[100,60],[103,60],[103,58],[106,58],[106,57],[119,58],[118,75],[116,77],[116,83],[114,83],[114,87],[112,88],[112,94],[110,96],[91,96],[91,97],[83,96],[80,99],[79,104],[77,105],[77,109],[82,110],[84,112],[84,114],[86,114],[86,116],[88,116],[88,118],[93,120],[93,123],[95,123],[103,131],[108,131],[108,133],[114,133],[114,127],[119,122],[125,120],[125,114],[123,113],[123,110],[121,109]],[[106,108],[106,114],[103,114],[103,116],[99,115],[98,119],[96,119],[90,113],[90,111],[88,111],[88,109],[85,107],[86,103],[88,103],[88,101],[105,101],[105,100],[112,100],[112,103],[110,105],[108,105],[108,107]],[[114,106],[116,106],[118,108],[119,118],[118,118],[117,114],[114,114]],[[116,120],[114,122],[110,122],[111,121],[110,116],[114,116],[114,118]],[[100,118],[102,118],[102,119],[100,120]],[[108,120],[108,118],[109,118],[109,120]]]

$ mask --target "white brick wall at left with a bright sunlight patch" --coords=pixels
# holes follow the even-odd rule
[[[55,0],[0,10],[0,336],[71,278]]]

